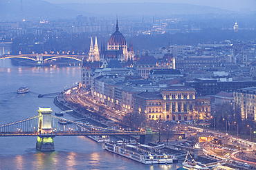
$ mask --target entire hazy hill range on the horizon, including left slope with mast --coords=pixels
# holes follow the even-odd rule
[[[208,6],[196,6],[183,3],[61,3],[53,4],[42,0],[0,1],[0,21],[54,20],[71,19],[77,14],[94,17],[113,17],[116,14],[125,17],[170,16],[173,14],[226,14],[230,11]]]

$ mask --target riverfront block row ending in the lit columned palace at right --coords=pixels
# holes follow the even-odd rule
[[[167,71],[167,70],[165,70]],[[125,74],[93,78],[94,100],[128,114],[140,112],[147,120],[194,120],[210,117],[210,97],[185,85],[167,85]]]

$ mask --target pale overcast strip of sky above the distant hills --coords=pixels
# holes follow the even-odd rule
[[[256,10],[256,0],[45,0],[51,3],[190,3],[201,6],[217,7],[225,10]]]

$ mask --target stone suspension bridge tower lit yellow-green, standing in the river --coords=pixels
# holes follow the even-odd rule
[[[53,138],[55,135],[52,134],[52,118],[51,107],[39,107],[38,108],[39,120],[38,120],[38,131],[36,148],[39,151],[54,151]]]

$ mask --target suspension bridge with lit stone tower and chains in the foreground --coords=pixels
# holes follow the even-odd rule
[[[52,115],[50,107],[39,107],[38,115],[17,122],[0,125],[1,136],[37,136],[36,148],[40,151],[54,151],[55,136],[143,136],[143,131],[125,131],[97,127]]]

